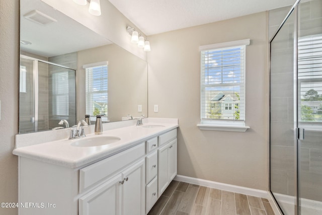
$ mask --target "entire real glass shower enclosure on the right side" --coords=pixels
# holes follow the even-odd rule
[[[322,214],[322,0],[297,1],[270,49],[270,191],[284,214]]]

